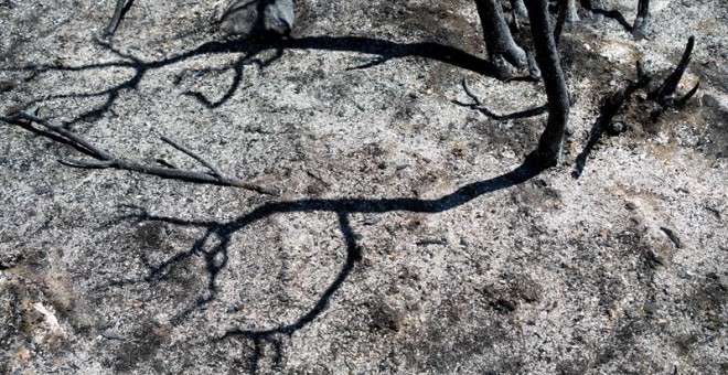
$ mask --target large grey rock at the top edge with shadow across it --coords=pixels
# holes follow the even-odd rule
[[[287,35],[293,28],[292,0],[233,0],[220,29],[243,38]]]

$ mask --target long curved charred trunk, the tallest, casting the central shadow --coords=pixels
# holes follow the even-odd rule
[[[548,121],[538,141],[535,157],[540,165],[553,167],[561,159],[561,143],[569,119],[569,93],[552,33],[548,1],[526,0],[525,3],[536,47],[536,62],[544,78],[548,99]]]

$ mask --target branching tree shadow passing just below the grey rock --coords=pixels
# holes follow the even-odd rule
[[[36,105],[40,103],[54,100],[54,99],[73,99],[73,98],[90,98],[90,97],[106,97],[106,100],[100,106],[97,106],[79,116],[64,122],[64,126],[76,124],[84,119],[96,119],[107,114],[114,106],[119,95],[124,90],[136,90],[139,84],[150,71],[159,69],[185,60],[216,54],[243,54],[231,66],[234,78],[233,83],[226,89],[225,94],[217,100],[207,98],[201,93],[188,90],[182,95],[195,98],[199,103],[207,108],[217,108],[227,103],[240,86],[243,79],[243,68],[248,64],[256,64],[258,68],[263,69],[283,56],[285,51],[288,50],[319,50],[331,52],[355,52],[363,54],[373,54],[378,57],[372,63],[353,68],[368,68],[381,64],[385,64],[392,60],[405,57],[422,57],[433,61],[439,61],[446,64],[458,66],[460,68],[478,73],[480,75],[497,77],[496,67],[489,61],[474,56],[458,47],[443,45],[433,42],[415,42],[415,43],[398,43],[393,41],[366,38],[366,36],[304,36],[300,39],[263,39],[255,41],[213,41],[204,43],[194,50],[180,53],[178,55],[157,60],[143,61],[131,54],[124,53],[115,47],[108,41],[96,41],[99,46],[121,57],[120,61],[110,63],[94,63],[79,66],[64,66],[64,65],[28,65],[25,67],[6,67],[0,71],[7,72],[30,72],[31,76],[38,76],[49,72],[87,72],[93,69],[104,68],[130,68],[133,69],[133,75],[121,83],[114,86],[86,93],[72,93],[45,96],[35,99],[25,105]],[[276,51],[276,54],[267,61],[256,58],[256,56],[266,51]],[[350,68],[352,69],[352,68]]]

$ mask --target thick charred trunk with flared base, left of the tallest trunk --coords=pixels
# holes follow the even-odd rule
[[[527,66],[526,53],[521,49],[515,41],[508,25],[503,17],[503,8],[500,0],[475,0],[478,7],[478,15],[483,26],[483,38],[485,39],[485,47],[488,49],[488,57],[495,64],[501,72],[503,78],[507,77],[508,68],[503,63],[503,60],[511,63],[517,68],[525,68]]]

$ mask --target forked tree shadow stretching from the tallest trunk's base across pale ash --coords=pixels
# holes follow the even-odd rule
[[[300,315],[296,321],[291,323],[282,324],[277,328],[267,330],[234,328],[214,340],[214,342],[222,342],[232,339],[242,339],[253,342],[254,353],[251,360],[251,372],[255,373],[259,366],[259,361],[263,358],[263,346],[266,344],[274,345],[275,352],[278,353],[276,355],[281,356],[282,354],[280,340],[286,336],[291,336],[297,331],[317,320],[317,318],[319,318],[326,310],[331,299],[344,285],[350,274],[355,268],[357,261],[362,259],[362,254],[356,239],[357,236],[350,223],[350,216],[352,214],[389,212],[410,212],[425,214],[442,213],[457,208],[484,194],[508,189],[526,182],[543,171],[543,168],[539,165],[540,164],[537,163],[533,157],[529,157],[526,158],[526,161],[523,164],[507,173],[492,179],[467,184],[439,199],[421,200],[413,197],[344,197],[271,202],[263,204],[257,208],[248,212],[247,214],[225,223],[194,222],[183,221],[174,217],[154,216],[150,215],[142,208],[136,208],[137,212],[122,216],[120,219],[116,219],[115,223],[120,223],[126,219],[133,219],[136,222],[154,221],[172,225],[180,225],[183,227],[197,227],[204,229],[205,233],[197,240],[195,240],[189,250],[175,254],[156,266],[148,265],[149,272],[143,279],[124,280],[119,282],[113,281],[109,286],[120,287],[128,283],[147,282],[149,283],[150,288],[153,288],[158,281],[163,280],[174,267],[178,267],[184,260],[193,256],[201,257],[205,262],[205,272],[207,277],[205,296],[201,296],[194,302],[189,303],[186,308],[184,308],[181,312],[176,313],[171,319],[173,324],[181,324],[190,317],[192,312],[204,309],[207,304],[217,298],[217,278],[221,270],[227,266],[228,249],[231,246],[232,237],[235,233],[272,215],[311,212],[329,212],[335,214],[338,218],[339,231],[343,235],[346,249],[346,258],[343,265],[340,267],[334,280],[331,281],[326,289],[321,293],[317,302],[311,308],[309,308],[306,313]]]

